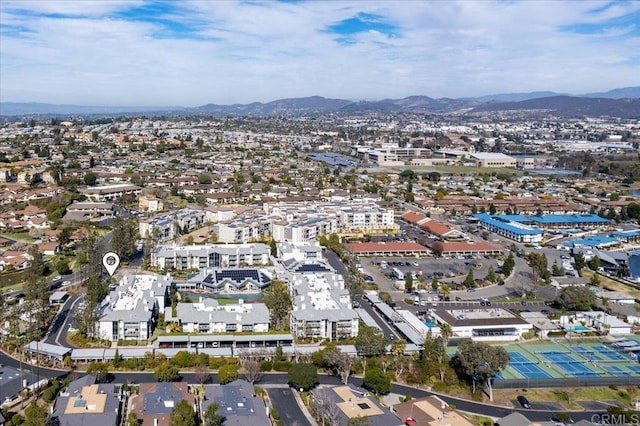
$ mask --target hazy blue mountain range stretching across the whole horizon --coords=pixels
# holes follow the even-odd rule
[[[553,113],[563,117],[612,116],[640,117],[640,86],[614,89],[603,93],[567,95],[555,92],[503,93],[477,98],[439,98],[409,96],[379,101],[351,101],[321,96],[279,99],[250,104],[207,104],[193,108],[182,107],[101,107],[54,105],[42,103],[1,102],[0,116],[78,116],[78,115],[208,115],[226,116],[320,116],[325,114],[474,114],[495,111],[522,111],[539,114]]]

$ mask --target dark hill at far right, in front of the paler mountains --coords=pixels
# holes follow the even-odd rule
[[[640,98],[607,99],[577,96],[551,96],[521,102],[479,105],[470,113],[489,111],[549,111],[564,117],[640,117]]]

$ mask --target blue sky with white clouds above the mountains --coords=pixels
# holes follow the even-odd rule
[[[640,1],[2,0],[0,101],[199,106],[640,85]]]

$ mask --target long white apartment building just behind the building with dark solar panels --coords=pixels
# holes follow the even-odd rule
[[[270,253],[271,248],[263,243],[159,245],[151,253],[151,265],[166,270],[267,265]]]

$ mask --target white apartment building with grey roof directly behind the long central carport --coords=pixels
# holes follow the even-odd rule
[[[269,310],[264,303],[219,305],[214,299],[198,303],[178,303],[176,316],[170,306],[165,309],[165,321],[180,324],[185,333],[236,333],[269,331]]]

